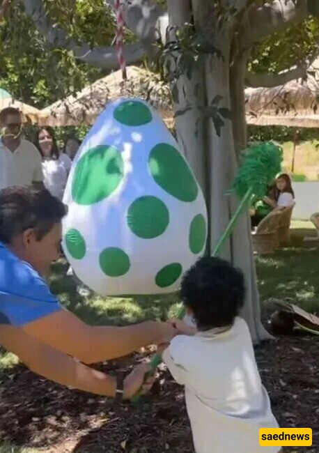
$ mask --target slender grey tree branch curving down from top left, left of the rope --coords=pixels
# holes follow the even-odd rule
[[[74,40],[68,38],[65,31],[49,22],[42,0],[22,0],[22,4],[24,5],[26,14],[31,17],[37,29],[47,38],[50,44],[55,47],[71,50],[77,59],[92,66],[109,70],[118,68],[115,47],[91,49],[87,44],[79,46]],[[123,53],[127,65],[131,65],[143,59],[145,50],[142,44],[127,44],[123,48]]]

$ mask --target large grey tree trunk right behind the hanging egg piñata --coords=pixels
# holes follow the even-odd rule
[[[187,5],[187,6],[186,6]],[[195,26],[201,26],[205,17],[205,0],[192,0],[192,12]],[[187,0],[169,1],[169,17],[171,24],[180,25],[189,21],[190,4]],[[188,8],[186,10],[186,8]],[[208,24],[207,24],[208,25]],[[210,24],[212,26],[212,24]],[[196,178],[203,187],[208,204],[209,242],[210,252],[223,233],[231,214],[235,211],[238,200],[226,197],[226,191],[231,187],[237,171],[236,147],[246,144],[246,125],[244,121],[244,72],[243,66],[230,71],[231,37],[225,31],[219,36],[215,34],[215,47],[223,55],[209,54],[201,67],[199,63],[193,70],[191,81],[185,75],[178,81],[180,92],[179,102],[174,106],[180,109],[184,105],[209,106],[215,96],[222,96],[219,107],[232,109],[235,118],[232,121],[225,119],[221,128],[220,137],[215,130],[211,119],[203,120],[203,109],[192,109],[178,116],[176,127],[178,137],[189,164],[192,166]],[[242,74],[239,74],[239,68]],[[240,79],[235,85],[236,77]],[[200,98],[194,98],[194,84],[201,84]],[[183,98],[182,88],[185,87]],[[233,87],[232,91],[230,87]],[[201,104],[204,102],[204,104]],[[198,134],[194,134],[196,122],[200,121]],[[236,142],[236,146],[235,146]],[[208,171],[206,170],[208,169]],[[231,260],[240,267],[245,275],[247,298],[242,316],[249,325],[251,337],[256,343],[270,337],[260,322],[260,305],[256,285],[256,270],[251,247],[250,225],[248,215],[242,215],[231,240],[228,240],[221,250],[221,256]]]

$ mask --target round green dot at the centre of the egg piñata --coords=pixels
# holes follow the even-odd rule
[[[157,197],[140,197],[133,201],[127,224],[139,238],[153,239],[160,236],[169,225],[169,210]]]

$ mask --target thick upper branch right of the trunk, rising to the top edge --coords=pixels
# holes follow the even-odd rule
[[[308,16],[306,0],[274,0],[263,6],[251,6],[242,24],[242,42],[246,45],[257,43],[273,33],[285,31]]]

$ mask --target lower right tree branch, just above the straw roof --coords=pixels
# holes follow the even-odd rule
[[[254,74],[252,72],[247,72],[245,84],[246,86],[251,86],[251,88],[258,88],[259,86],[271,88],[272,86],[284,85],[291,80],[302,79],[306,76],[306,72],[315,58],[316,57],[313,56],[311,59],[304,60],[297,66],[293,66],[293,68],[283,70],[277,74]]]

